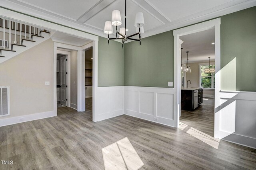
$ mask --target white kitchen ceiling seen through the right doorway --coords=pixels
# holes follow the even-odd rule
[[[187,53],[188,53],[188,62],[202,62],[215,60],[215,46],[214,44],[214,29],[209,29],[206,31],[200,31],[197,33],[192,33],[188,35],[181,36],[180,39],[184,41],[181,45],[182,49],[182,62],[187,62]]]

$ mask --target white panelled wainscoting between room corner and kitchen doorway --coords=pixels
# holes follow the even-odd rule
[[[174,89],[124,86],[124,113],[173,127]]]

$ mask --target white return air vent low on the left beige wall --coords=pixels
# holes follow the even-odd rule
[[[10,115],[9,86],[0,86],[0,116]]]

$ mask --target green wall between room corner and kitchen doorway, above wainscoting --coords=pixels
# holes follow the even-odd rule
[[[168,31],[124,45],[124,85],[168,87],[174,81],[173,32]]]

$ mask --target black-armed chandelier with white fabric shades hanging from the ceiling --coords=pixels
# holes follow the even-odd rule
[[[140,41],[141,37],[140,35],[144,33],[144,17],[142,12],[137,12],[135,17],[134,26],[137,28],[135,34],[132,34],[130,36],[127,36],[126,34],[126,0],[124,0],[124,8],[125,8],[125,27],[121,27],[119,32],[117,31],[117,26],[122,24],[121,15],[119,10],[112,11],[112,19],[111,21],[106,21],[104,26],[104,33],[108,34],[108,44],[109,40],[111,39],[122,39],[122,47],[124,48],[124,42],[128,39],[134,40],[134,41]],[[116,26],[116,38],[109,38],[109,34],[113,33],[113,27],[112,25]],[[119,34],[119,37],[118,37]],[[138,39],[131,38],[135,35],[139,35]],[[140,41],[141,45],[141,41]]]

